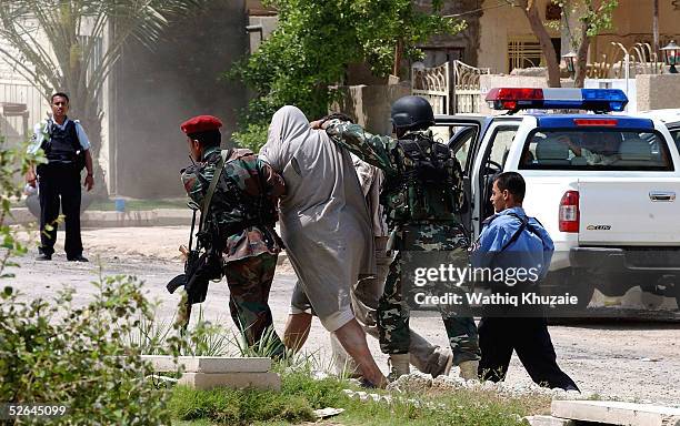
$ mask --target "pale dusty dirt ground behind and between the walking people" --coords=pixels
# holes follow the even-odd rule
[[[54,288],[70,284],[78,290],[76,302],[84,303],[94,291],[89,283],[100,273],[131,274],[143,280],[149,295],[160,302],[159,317],[170,317],[177,297],[166,292],[164,284],[181,273],[178,246],[186,243],[187,235],[184,226],[86,230],[84,254],[91,263],[67,262],[60,247],[52,262],[34,262],[36,250],[32,250],[19,260],[21,267],[13,271],[17,276],[12,281],[28,297],[49,296]],[[58,240],[63,242],[61,232]],[[270,297],[279,332],[283,328],[294,282],[292,268],[283,263],[277,272]],[[232,327],[228,297],[226,283],[211,285],[203,305],[208,318]],[[431,342],[447,344],[443,325],[438,318],[416,316],[411,326]],[[550,333],[558,362],[582,390],[680,406],[679,323],[610,320],[551,326]],[[379,365],[387,371],[387,358],[380,353],[378,343],[371,338],[369,343]],[[328,359],[329,347],[328,334],[314,321],[304,349],[320,354],[320,359]],[[531,383],[516,356],[507,381],[518,386]]]

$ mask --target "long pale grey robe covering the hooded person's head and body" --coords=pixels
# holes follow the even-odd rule
[[[350,153],[312,130],[296,106],[272,116],[260,150],[283,176],[281,239],[321,324],[334,332],[354,315],[350,290],[374,272],[371,219]]]

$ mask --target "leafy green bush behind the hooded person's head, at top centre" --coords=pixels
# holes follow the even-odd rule
[[[320,118],[339,100],[350,63],[366,62],[376,75],[392,71],[396,52],[422,57],[417,47],[431,36],[464,28],[442,17],[442,0],[419,8],[411,0],[269,0],[278,11],[277,29],[259,49],[236,63],[227,78],[243,82],[256,95],[244,121],[269,122],[286,104]]]

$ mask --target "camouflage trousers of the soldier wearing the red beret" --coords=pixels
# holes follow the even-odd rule
[[[273,329],[269,291],[277,267],[277,255],[262,253],[229,262],[224,275],[229,285],[229,311],[231,318],[250,346],[260,344],[264,334],[270,334],[267,342],[269,355],[283,355],[283,343]]]

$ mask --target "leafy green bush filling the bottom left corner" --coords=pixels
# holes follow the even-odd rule
[[[27,301],[4,287],[0,306],[0,400],[70,406],[60,422],[73,425],[169,424],[168,390],[126,336],[151,320],[133,277],[101,278],[83,307],[74,290],[52,301]]]

